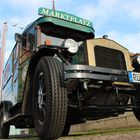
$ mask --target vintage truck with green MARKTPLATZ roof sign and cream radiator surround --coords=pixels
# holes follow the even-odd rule
[[[133,111],[140,121],[140,55],[92,22],[39,8],[41,17],[20,35],[3,71],[0,138],[10,125],[35,128],[42,140],[70,126]]]

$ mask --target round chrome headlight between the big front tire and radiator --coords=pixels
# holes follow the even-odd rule
[[[64,47],[72,54],[77,53],[78,51],[78,43],[73,39],[66,39],[64,41]]]

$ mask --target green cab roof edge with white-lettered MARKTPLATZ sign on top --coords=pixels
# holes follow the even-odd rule
[[[46,8],[39,8],[38,14],[41,15],[39,19],[37,19],[34,23],[35,25],[47,22],[53,23],[54,25],[82,31],[85,33],[93,34],[95,30],[93,28],[93,24],[91,21],[77,17],[72,14],[68,14],[62,11],[55,11]],[[34,23],[29,24],[30,26],[34,25]],[[28,29],[27,26],[26,29]]]

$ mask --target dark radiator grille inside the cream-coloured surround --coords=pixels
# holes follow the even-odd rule
[[[126,70],[124,54],[121,51],[102,46],[95,46],[94,52],[96,66]]]

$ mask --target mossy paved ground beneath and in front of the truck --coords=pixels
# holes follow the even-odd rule
[[[10,140],[39,140],[36,136],[10,136]],[[59,140],[140,140],[140,128],[118,128],[77,132]]]

